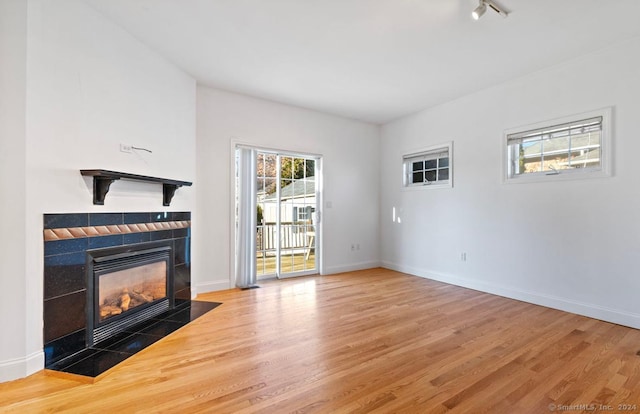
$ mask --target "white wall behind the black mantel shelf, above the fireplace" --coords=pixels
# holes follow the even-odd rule
[[[18,294],[3,291],[3,306],[15,310],[0,314],[0,327],[22,327],[24,338],[1,350],[0,367],[35,358],[26,369],[33,372],[43,365],[42,214],[194,210],[193,187],[163,207],[161,185],[126,181],[112,184],[105,205],[94,206],[92,182],[79,170],[193,181],[195,81],[79,0],[30,0],[27,21],[26,162],[16,173],[26,176],[26,269],[12,275],[24,284]],[[121,153],[120,143],[153,154]],[[14,242],[3,237],[0,247]]]

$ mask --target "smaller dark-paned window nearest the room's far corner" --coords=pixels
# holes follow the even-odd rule
[[[452,143],[430,147],[420,152],[402,157],[404,186],[451,187],[452,184]]]

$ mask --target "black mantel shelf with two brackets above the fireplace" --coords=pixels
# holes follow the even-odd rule
[[[118,171],[109,170],[80,170],[80,174],[93,177],[93,204],[104,205],[104,198],[109,192],[109,187],[115,180],[134,180],[144,181],[147,183],[161,183],[162,184],[162,205],[171,205],[171,199],[176,190],[180,187],[190,186],[193,184],[190,181],[178,181],[168,178],[149,177],[146,175],[129,174]]]

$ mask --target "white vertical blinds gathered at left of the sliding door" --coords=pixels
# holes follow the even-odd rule
[[[236,237],[236,287],[250,288],[256,271],[256,156],[252,148],[238,148],[238,229]]]

